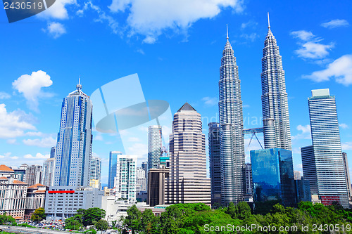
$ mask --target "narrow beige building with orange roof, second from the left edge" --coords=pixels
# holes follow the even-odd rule
[[[25,200],[25,220],[30,220],[34,211],[38,208],[44,208],[46,186],[41,183],[34,184],[27,188],[27,197]]]

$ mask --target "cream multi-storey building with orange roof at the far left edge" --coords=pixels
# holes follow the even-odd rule
[[[3,166],[1,165],[0,168]],[[16,220],[23,220],[27,187],[27,183],[15,178],[0,177],[0,214],[6,213]]]

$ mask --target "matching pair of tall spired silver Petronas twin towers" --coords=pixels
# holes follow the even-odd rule
[[[269,22],[269,15],[268,15]],[[262,106],[265,148],[291,150],[289,109],[282,58],[268,24],[262,58]],[[222,51],[219,82],[220,165],[222,204],[240,202],[244,194],[244,134],[241,81],[234,50],[227,41]]]

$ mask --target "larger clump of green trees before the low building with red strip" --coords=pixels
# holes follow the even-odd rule
[[[80,230],[83,226],[95,225],[105,217],[105,210],[100,208],[77,209],[75,216],[65,219],[65,228]]]

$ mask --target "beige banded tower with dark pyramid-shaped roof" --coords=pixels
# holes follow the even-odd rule
[[[166,204],[211,203],[206,177],[206,136],[201,115],[188,103],[174,115],[170,134],[170,175]]]

